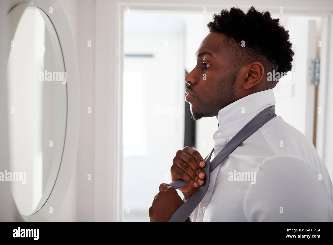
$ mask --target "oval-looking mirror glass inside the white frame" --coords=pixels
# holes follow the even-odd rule
[[[7,64],[11,191],[21,215],[45,204],[66,135],[67,75],[57,33],[37,7],[25,9]]]

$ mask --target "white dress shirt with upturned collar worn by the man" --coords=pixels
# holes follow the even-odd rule
[[[246,123],[274,104],[273,89],[269,89],[222,108],[211,160]],[[210,173],[208,191],[190,219],[333,221],[332,183],[311,141],[276,116]]]

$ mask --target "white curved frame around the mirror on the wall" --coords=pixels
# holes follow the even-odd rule
[[[66,135],[58,176],[50,196],[41,209],[29,216],[21,215],[26,222],[44,222],[53,221],[55,219],[63,204],[72,177],[79,138],[80,82],[72,31],[64,10],[56,0],[33,0],[15,6],[5,18],[4,24],[9,27],[10,32],[6,37],[10,40],[5,40],[4,43],[10,44],[11,40],[14,40],[14,34],[23,12],[27,7],[32,6],[43,10],[50,18],[59,38],[65,72],[67,72]],[[49,8],[53,9],[53,13],[49,13]],[[7,61],[11,48],[10,45],[8,45],[8,47],[6,53],[3,54],[4,57],[7,58]],[[41,201],[43,200],[45,201],[44,197],[42,197]],[[52,208],[52,213],[50,213],[50,208]]]

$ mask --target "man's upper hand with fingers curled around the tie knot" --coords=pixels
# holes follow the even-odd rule
[[[171,181],[182,179],[188,183],[178,188],[189,198],[204,183],[205,173],[202,168],[206,165],[200,153],[188,146],[178,150],[172,160]]]

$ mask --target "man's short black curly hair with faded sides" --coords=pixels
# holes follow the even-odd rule
[[[289,31],[272,19],[268,11],[260,13],[253,6],[245,14],[241,9],[223,9],[213,15],[207,24],[210,32],[226,36],[224,46],[231,51],[233,63],[238,72],[242,65],[258,61],[266,74],[280,74],[291,71],[294,52],[289,42]],[[244,45],[241,45],[241,44]],[[266,89],[273,88],[276,82],[266,83]]]

